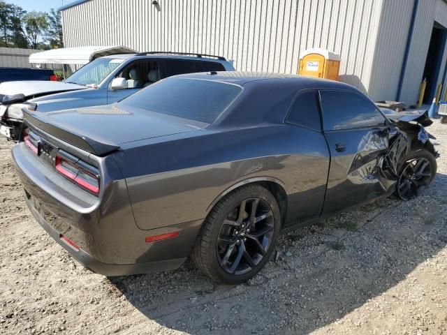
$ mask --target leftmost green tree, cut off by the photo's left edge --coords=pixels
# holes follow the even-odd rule
[[[0,46],[28,47],[22,30],[25,13],[19,6],[0,1]]]

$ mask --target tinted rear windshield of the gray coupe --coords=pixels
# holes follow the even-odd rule
[[[223,82],[168,78],[125,98],[119,107],[137,107],[212,124],[240,91],[242,87]]]

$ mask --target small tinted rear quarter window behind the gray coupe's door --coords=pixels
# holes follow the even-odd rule
[[[287,121],[321,131],[318,91],[312,89],[299,93],[288,113]]]

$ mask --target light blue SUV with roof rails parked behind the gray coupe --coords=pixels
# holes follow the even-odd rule
[[[140,52],[97,58],[64,82],[4,82],[0,84],[0,134],[10,140],[18,139],[23,108],[52,112],[107,105],[171,75],[217,70],[234,68],[218,56]]]

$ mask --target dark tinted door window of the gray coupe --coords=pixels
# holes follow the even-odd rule
[[[385,118],[364,96],[349,91],[321,91],[325,131],[383,126]]]

